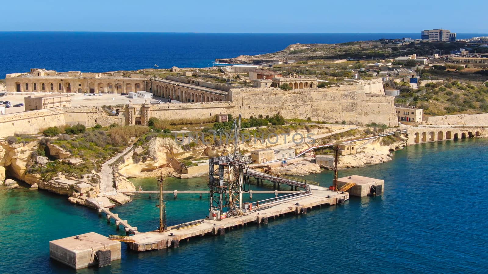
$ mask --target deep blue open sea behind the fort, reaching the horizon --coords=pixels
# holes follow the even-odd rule
[[[457,34],[458,39],[487,34]],[[294,43],[340,43],[418,33],[218,34],[123,32],[0,32],[0,78],[30,68],[105,72],[207,67],[216,58],[276,52]]]

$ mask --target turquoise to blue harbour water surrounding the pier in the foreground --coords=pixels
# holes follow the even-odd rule
[[[134,253],[122,245],[111,266],[78,273],[483,273],[488,268],[488,140],[427,143],[390,162],[341,171],[385,180],[382,196],[352,197],[342,206],[250,225],[180,248]],[[328,186],[332,173],[306,176]],[[153,179],[136,186],[156,189]],[[168,178],[167,190],[205,189],[204,178]],[[272,189],[264,183],[259,188]],[[156,229],[156,199],[134,196],[114,212],[141,231]],[[270,197],[255,195],[254,200]],[[167,199],[168,224],[202,218],[207,196]],[[0,273],[74,273],[49,259],[48,242],[95,231],[115,234],[96,211],[44,191],[0,189]]]

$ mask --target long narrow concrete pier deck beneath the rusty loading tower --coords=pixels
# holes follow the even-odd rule
[[[247,223],[267,223],[268,218],[282,216],[287,213],[306,214],[307,209],[310,210],[314,206],[335,205],[347,199],[349,199],[349,194],[346,192],[343,194],[330,191],[324,187],[310,185],[310,193],[277,201],[276,204],[260,204],[256,209],[253,206],[252,211],[247,211],[244,215],[238,217],[230,217],[222,220],[205,218],[201,224],[182,229],[175,229],[176,226],[171,226],[163,233],[157,231],[139,232],[136,235],[130,236],[130,239],[133,239],[134,242],[128,243],[128,245],[135,251],[178,247],[181,240],[191,237],[206,234],[224,234],[226,228],[232,229],[233,227],[243,226]]]

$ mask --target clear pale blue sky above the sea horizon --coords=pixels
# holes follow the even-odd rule
[[[487,33],[488,1],[21,0],[2,2],[0,31]]]

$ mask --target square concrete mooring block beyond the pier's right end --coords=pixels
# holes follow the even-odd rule
[[[346,184],[355,183],[347,192],[352,196],[364,197],[368,195],[381,195],[385,191],[385,181],[365,176],[352,175],[337,179],[337,188],[340,190]],[[346,186],[347,187],[347,186]]]

